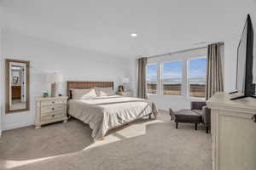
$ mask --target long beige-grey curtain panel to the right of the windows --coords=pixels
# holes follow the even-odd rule
[[[208,45],[206,99],[216,92],[224,91],[223,69],[220,48],[222,43]]]

